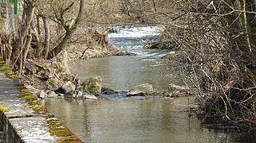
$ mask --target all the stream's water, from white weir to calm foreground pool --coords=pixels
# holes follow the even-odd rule
[[[179,72],[160,59],[171,51],[141,48],[157,38],[156,29],[145,29],[148,28],[125,29],[109,35],[117,47],[137,56],[77,61],[71,63],[74,72],[81,79],[100,75],[104,87],[118,91],[128,91],[141,83],[152,83],[156,91],[163,91],[169,83],[182,83]],[[120,95],[110,99],[45,99],[44,103],[84,142],[236,142],[233,133],[203,128],[195,115],[189,117],[185,111],[187,98],[165,100]]]

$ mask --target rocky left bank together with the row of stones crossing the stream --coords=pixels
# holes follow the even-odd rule
[[[120,51],[108,42],[108,32],[92,29],[91,33],[93,33],[93,39],[89,43],[69,45],[52,60],[27,60],[22,74],[22,83],[42,99],[46,97],[100,99],[100,95],[118,93],[118,91],[101,87],[101,77],[92,77],[80,81],[77,75],[69,71],[69,60],[84,60],[109,55],[130,55],[128,52]],[[175,90],[173,90],[174,87]],[[101,90],[101,88],[104,90]],[[167,98],[177,97],[187,95],[188,90],[185,89],[172,85],[163,93],[157,93],[153,90],[152,85],[144,83],[128,91],[125,96],[158,95]]]

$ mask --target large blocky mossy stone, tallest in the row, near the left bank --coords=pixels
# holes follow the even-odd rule
[[[93,76],[89,79],[85,79],[84,82],[81,83],[81,91],[88,92],[93,95],[101,94],[101,84],[102,79],[100,76]]]

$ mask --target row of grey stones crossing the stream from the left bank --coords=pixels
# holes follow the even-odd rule
[[[102,78],[100,76],[93,76],[85,81],[73,79],[66,81],[56,89],[38,90],[31,85],[26,86],[38,98],[61,98],[61,99],[108,99],[108,95],[124,95],[130,96],[157,96],[165,99],[173,97],[182,97],[192,95],[188,87],[181,87],[175,84],[170,84],[167,91],[154,91],[152,84],[143,83],[133,87],[129,91],[114,91],[112,89],[102,87]],[[105,96],[107,95],[107,96]]]

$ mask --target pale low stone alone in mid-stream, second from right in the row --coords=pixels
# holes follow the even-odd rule
[[[127,96],[136,96],[136,95],[152,95],[154,92],[152,84],[144,83],[140,84],[130,91],[128,91]]]

